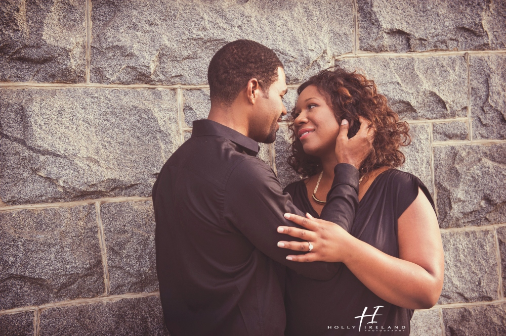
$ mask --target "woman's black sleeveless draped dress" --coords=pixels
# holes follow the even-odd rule
[[[397,169],[379,174],[360,201],[350,233],[398,258],[397,219],[418,196],[418,187],[434,208],[429,190],[416,176]],[[289,184],[284,191],[299,209],[318,218],[303,180]],[[408,335],[413,316],[412,309],[395,306],[372,293],[345,264],[328,281],[310,279],[287,268],[285,307],[286,336],[359,335],[364,331]]]

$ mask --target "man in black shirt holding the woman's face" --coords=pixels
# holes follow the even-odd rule
[[[286,322],[282,265],[321,280],[339,266],[291,262],[288,250],[277,247],[285,236],[276,228],[295,226],[283,215],[303,215],[282,194],[273,170],[256,158],[258,142],[273,142],[286,114],[283,65],[266,46],[237,40],[216,53],[207,77],[208,118],[193,122],[191,138],[153,186],[165,323],[173,336],[280,336]],[[348,225],[358,207],[353,165],[370,150],[365,138],[350,142],[357,146],[341,149],[338,161],[344,163],[335,168],[321,215]]]

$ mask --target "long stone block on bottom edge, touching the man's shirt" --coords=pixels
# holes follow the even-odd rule
[[[40,313],[40,336],[167,335],[160,298],[55,307]]]

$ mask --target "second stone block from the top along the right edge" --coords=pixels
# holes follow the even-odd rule
[[[473,139],[506,139],[506,55],[470,57],[470,75]]]

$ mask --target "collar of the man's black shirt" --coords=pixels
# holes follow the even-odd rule
[[[257,156],[260,146],[257,141],[239,133],[235,129],[222,125],[209,119],[200,119],[193,122],[191,136],[218,135],[244,147],[245,152],[251,156]]]

